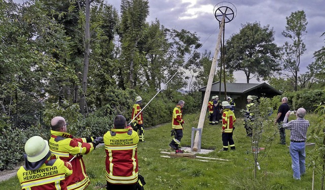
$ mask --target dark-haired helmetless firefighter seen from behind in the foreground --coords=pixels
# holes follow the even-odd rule
[[[114,118],[114,128],[105,133],[106,189],[136,190],[145,184],[139,174],[139,136],[126,125],[122,115]]]

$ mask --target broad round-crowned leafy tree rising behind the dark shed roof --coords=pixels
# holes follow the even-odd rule
[[[243,71],[247,83],[252,78],[259,81],[270,77],[280,70],[277,62],[280,48],[273,41],[274,30],[269,25],[261,27],[257,22],[242,24],[240,32],[226,40],[226,69]]]

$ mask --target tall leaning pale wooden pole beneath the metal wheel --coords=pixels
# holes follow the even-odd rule
[[[213,82],[213,77],[214,77],[214,73],[215,73],[215,67],[216,67],[217,58],[218,58],[219,49],[220,49],[221,36],[222,36],[223,28],[224,28],[224,17],[225,17],[225,14],[223,14],[222,19],[221,19],[221,25],[220,25],[220,31],[219,31],[219,34],[218,34],[217,45],[215,47],[215,52],[214,52],[214,56],[213,56],[213,59],[212,59],[208,84],[207,84],[207,88],[206,88],[206,91],[205,91],[205,94],[204,94],[203,104],[202,104],[202,108],[201,108],[201,114],[200,114],[198,129],[202,128],[202,130],[203,130],[205,115],[206,115],[206,112],[207,112],[208,101],[209,101],[212,82]],[[193,151],[198,151],[198,145],[199,145],[199,131],[197,131],[196,136],[194,138]]]

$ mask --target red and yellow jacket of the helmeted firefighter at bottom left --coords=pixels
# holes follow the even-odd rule
[[[72,165],[50,156],[39,168],[21,166],[17,172],[21,189],[67,189],[66,176],[72,174]]]

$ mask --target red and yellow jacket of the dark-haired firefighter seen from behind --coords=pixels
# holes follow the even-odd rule
[[[111,129],[104,135],[106,181],[111,184],[138,182],[138,133],[132,128]]]

